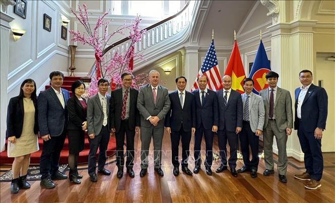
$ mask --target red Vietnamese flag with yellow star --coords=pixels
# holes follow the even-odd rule
[[[245,73],[236,40],[224,75],[228,75],[232,78],[233,90],[241,94],[244,93],[243,80],[245,79]]]

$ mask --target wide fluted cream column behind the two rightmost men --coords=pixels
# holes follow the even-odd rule
[[[298,25],[298,26],[297,26]],[[279,74],[278,86],[291,93],[293,115],[294,90],[301,84],[299,72],[304,69],[313,72],[313,33],[304,30],[306,27],[291,25],[275,25],[269,27],[272,31],[271,37],[271,69]],[[276,141],[274,141],[274,152],[278,153]],[[303,161],[304,154],[301,151],[297,131],[293,130],[287,141],[287,155],[299,161]]]

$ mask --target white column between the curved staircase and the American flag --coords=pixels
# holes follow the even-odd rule
[[[188,80],[186,85],[186,90],[190,90],[193,86],[196,75],[199,72],[198,65],[198,48],[197,47],[185,47],[185,65],[183,73],[185,73],[185,78]]]

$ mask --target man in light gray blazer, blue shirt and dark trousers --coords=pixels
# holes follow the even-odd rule
[[[253,80],[251,78],[244,79],[243,88],[245,91],[241,95],[243,102],[243,126],[239,137],[244,165],[237,172],[250,171],[251,177],[255,178],[257,177],[259,162],[258,136],[263,133],[265,110],[262,97],[252,92]],[[252,154],[251,161],[249,158],[249,145]]]

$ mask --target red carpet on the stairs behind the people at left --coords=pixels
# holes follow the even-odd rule
[[[71,85],[74,81],[80,80],[80,77],[64,77],[64,82],[63,82],[63,89],[69,90],[70,91],[70,96],[72,96],[71,92]],[[45,89],[48,89],[50,85],[45,86]],[[43,148],[43,140],[41,138],[38,139],[38,145],[40,150],[38,152],[35,152],[31,154],[30,156],[30,164],[39,164],[40,162],[40,156],[42,153],[42,148]],[[7,141],[6,141],[6,149],[7,149]],[[83,164],[88,162],[88,154],[90,151],[90,144],[88,141],[88,135],[85,134],[85,147],[84,150],[79,154],[78,158],[78,163]],[[110,157],[114,155],[116,152],[116,142],[115,142],[115,137],[111,137],[109,139],[108,147],[107,147],[107,157]],[[97,152],[98,156],[99,150]],[[68,138],[65,139],[64,147],[63,150],[60,153],[60,159],[59,159],[59,164],[67,164],[68,163],[68,157],[69,157],[69,141]],[[12,164],[14,161],[14,158],[9,158],[7,157],[7,151],[5,150],[4,152],[0,153],[0,164]]]

